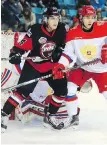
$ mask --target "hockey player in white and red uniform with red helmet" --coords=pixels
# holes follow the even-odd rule
[[[69,30],[66,38],[66,46],[57,64],[54,65],[54,78],[64,77],[62,72],[71,64],[82,64],[87,61],[100,58],[101,62],[87,65],[81,69],[70,72],[68,82],[68,95],[66,106],[71,121],[68,126],[78,120],[77,113],[78,86],[92,78],[99,92],[107,99],[107,22],[96,22],[96,11],[92,6],[83,6],[79,11],[80,25]]]

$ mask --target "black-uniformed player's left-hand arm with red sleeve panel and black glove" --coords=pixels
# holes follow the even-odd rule
[[[9,55],[10,58],[9,62],[11,64],[20,64],[21,56],[29,50],[32,50],[31,28],[28,30],[28,32],[20,42],[15,42]]]

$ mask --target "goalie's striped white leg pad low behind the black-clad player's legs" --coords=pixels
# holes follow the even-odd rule
[[[18,106],[16,109],[16,118],[20,120],[22,123],[26,123],[31,121],[34,118],[38,118],[43,120],[45,115],[44,109],[49,104],[50,97],[48,96],[46,100],[42,103],[35,102],[33,100],[25,100],[22,105]],[[59,108],[58,112],[54,115],[54,118],[62,121],[63,119],[68,117],[68,113],[66,110],[65,103]]]

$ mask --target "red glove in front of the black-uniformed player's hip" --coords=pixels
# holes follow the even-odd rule
[[[64,78],[64,72],[62,72],[62,70],[64,70],[65,67],[63,64],[60,63],[55,63],[52,69],[52,74],[54,76],[54,79],[62,79]]]

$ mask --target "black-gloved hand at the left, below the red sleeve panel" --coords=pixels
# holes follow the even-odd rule
[[[20,53],[12,52],[9,57],[10,57],[9,62],[11,64],[20,64],[21,63],[21,54]]]

